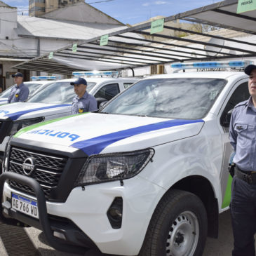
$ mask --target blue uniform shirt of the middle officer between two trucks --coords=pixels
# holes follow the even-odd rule
[[[84,112],[91,112],[97,110],[97,101],[93,95],[84,93],[83,97],[78,95],[74,97],[72,102],[72,114],[79,114]]]

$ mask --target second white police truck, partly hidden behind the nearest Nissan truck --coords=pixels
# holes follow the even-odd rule
[[[75,93],[74,87],[70,86],[70,82],[74,80],[51,81],[49,86],[40,90],[27,102],[15,102],[0,106],[0,159],[4,157],[9,136],[16,133],[20,128],[32,123],[71,114],[72,100]],[[86,78],[88,82],[87,91],[96,97],[100,105],[101,102],[112,99],[116,94],[138,80],[122,77],[88,77]],[[43,81],[32,81],[31,83],[43,83]]]

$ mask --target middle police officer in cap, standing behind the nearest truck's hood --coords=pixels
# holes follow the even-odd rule
[[[74,86],[74,92],[76,93],[76,97],[74,97],[72,102],[72,114],[97,110],[97,101],[95,97],[86,91],[86,79],[79,77],[79,79],[76,79],[76,81],[70,84]]]

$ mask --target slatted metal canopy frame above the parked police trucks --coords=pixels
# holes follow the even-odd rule
[[[256,10],[237,14],[237,4],[238,0],[220,1],[164,18],[164,30],[161,33],[150,34],[151,22],[146,22],[110,33],[106,46],[100,46],[100,36],[97,36],[77,43],[76,53],[72,52],[72,45],[69,45],[55,50],[51,60],[48,55],[43,55],[14,67],[70,75],[74,71],[95,69],[95,66],[102,63],[105,67],[101,70],[119,70],[172,62],[256,57],[256,43],[214,33],[195,32],[167,23],[184,20],[243,32],[245,36],[256,35]],[[168,32],[171,31],[191,36],[170,36]],[[225,43],[220,46],[217,40]],[[76,65],[78,61],[80,65]]]

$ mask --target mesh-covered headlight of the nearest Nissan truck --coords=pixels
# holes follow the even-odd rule
[[[140,173],[154,156],[154,149],[90,156],[83,165],[75,187],[129,179]]]

